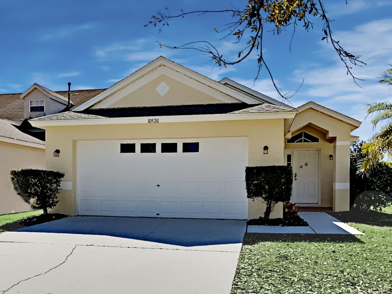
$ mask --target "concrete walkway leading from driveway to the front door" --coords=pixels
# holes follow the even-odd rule
[[[359,230],[339,221],[325,212],[298,212],[309,227],[248,226],[248,233],[280,234],[352,234],[363,235]]]

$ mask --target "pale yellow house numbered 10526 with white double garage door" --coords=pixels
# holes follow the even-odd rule
[[[350,133],[361,124],[163,57],[72,111],[29,122],[46,131],[46,168],[65,173],[53,212],[229,219],[263,214],[246,196],[248,165],[291,165],[293,202],[347,211]]]

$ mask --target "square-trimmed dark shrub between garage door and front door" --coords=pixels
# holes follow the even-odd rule
[[[246,167],[245,182],[248,198],[262,198],[265,201],[264,218],[267,219],[276,203],[290,201],[292,168],[286,165]]]

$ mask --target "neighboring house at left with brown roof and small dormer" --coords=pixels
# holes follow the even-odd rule
[[[71,107],[82,104],[104,89],[71,91]],[[29,118],[66,110],[67,92],[53,92],[34,84],[22,94],[0,94],[0,214],[31,210],[13,189],[12,169],[45,169],[45,130]],[[71,108],[72,109],[72,108]]]

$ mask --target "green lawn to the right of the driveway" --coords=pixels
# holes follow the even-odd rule
[[[391,213],[331,213],[364,236],[245,234],[232,294],[391,293]]]

